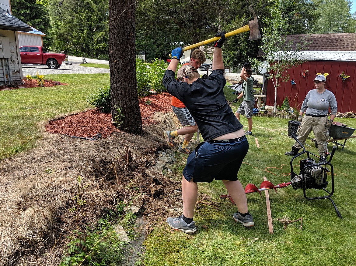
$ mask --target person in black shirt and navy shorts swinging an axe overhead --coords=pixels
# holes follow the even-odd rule
[[[192,234],[197,231],[193,214],[198,198],[198,183],[221,180],[238,212],[235,221],[246,227],[254,226],[248,212],[244,188],[237,173],[248,151],[248,142],[242,124],[236,119],[226,101],[223,88],[224,63],[221,46],[225,41],[225,31],[217,34],[220,39],[214,43],[213,71],[207,79],[200,78],[198,70],[190,65],[182,66],[177,72],[182,47],[172,51],[172,61],[163,76],[163,85],[189,110],[200,129],[204,142],[200,143],[188,156],[183,170],[182,198],[183,214],[167,218],[173,229]]]

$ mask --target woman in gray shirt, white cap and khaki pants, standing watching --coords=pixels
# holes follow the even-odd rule
[[[302,107],[300,107],[298,121],[301,122],[297,130],[298,140],[303,145],[307,140],[310,132],[313,130],[316,142],[318,143],[318,150],[320,160],[326,161],[326,153],[328,152],[328,145],[326,140],[329,139],[328,128],[334,121],[337,112],[337,102],[335,95],[329,90],[325,89],[324,85],[326,77],[318,75],[314,79],[316,89],[310,90],[305,96]],[[330,119],[328,119],[329,107],[331,110]],[[303,113],[305,116],[303,117]],[[292,146],[292,150],[286,152],[286,155],[297,155],[302,147],[298,142]]]

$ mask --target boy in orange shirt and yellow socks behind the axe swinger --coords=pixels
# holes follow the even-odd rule
[[[199,49],[195,49],[192,52],[189,63],[185,63],[184,65],[191,65],[198,69],[205,61],[206,57],[204,52]],[[178,100],[174,96],[172,96],[172,109],[183,127],[175,131],[164,131],[164,137],[166,138],[167,144],[171,148],[174,148],[174,137],[178,137],[178,135],[185,135],[183,144],[178,148],[177,151],[178,153],[188,154],[188,144],[193,138],[194,133],[198,131],[198,126],[195,124],[194,118],[190,115],[187,107],[185,107],[182,101]]]

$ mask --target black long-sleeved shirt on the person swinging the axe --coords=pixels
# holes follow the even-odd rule
[[[214,70],[207,79],[198,78],[192,84],[178,82],[174,77],[173,71],[166,70],[163,85],[185,104],[205,141],[243,127],[226,101],[223,70]]]

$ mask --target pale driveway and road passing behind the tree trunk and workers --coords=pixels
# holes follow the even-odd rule
[[[63,64],[58,69],[49,69],[47,66],[42,65],[22,65],[23,77],[27,74],[31,76],[35,76],[36,72],[40,75],[49,75],[49,74],[98,74],[98,73],[109,73],[109,69],[106,68],[96,68],[96,67],[83,67],[79,66],[79,64],[83,63],[83,57],[78,56],[68,56],[69,63],[72,63],[71,66]],[[107,60],[98,60],[98,59],[87,59],[88,63],[97,63],[109,65],[109,61]],[[199,74],[206,74],[206,71],[198,71]],[[209,72],[210,74],[210,72]],[[240,73],[225,73],[226,78],[235,79],[240,81]],[[254,78],[258,79],[258,83],[262,83],[262,76],[253,75]]]

